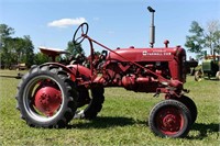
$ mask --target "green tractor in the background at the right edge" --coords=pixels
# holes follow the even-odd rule
[[[200,81],[201,78],[220,80],[220,55],[205,55],[201,68],[195,72],[196,81]]]

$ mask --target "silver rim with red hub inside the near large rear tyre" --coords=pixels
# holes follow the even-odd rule
[[[54,78],[37,76],[32,78],[24,88],[24,109],[35,121],[48,122],[61,113],[64,104],[63,97],[63,88]]]

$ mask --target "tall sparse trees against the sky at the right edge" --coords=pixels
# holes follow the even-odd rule
[[[198,22],[193,21],[189,33],[186,36],[185,46],[189,52],[196,53],[198,57],[204,56],[202,50],[208,48],[210,55],[220,52],[220,23],[219,21],[210,21],[205,30]]]

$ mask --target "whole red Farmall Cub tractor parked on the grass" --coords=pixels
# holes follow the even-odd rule
[[[148,7],[148,11],[154,18],[155,10]],[[48,128],[65,127],[74,117],[92,120],[102,109],[105,88],[122,87],[155,97],[163,93],[165,100],[148,116],[151,131],[161,137],[186,136],[197,119],[195,102],[184,96],[186,52],[180,46],[168,47],[167,42],[165,47],[153,48],[154,30],[152,19],[151,48],[112,50],[87,35],[87,23],[80,24],[73,40],[88,40],[90,67],[59,63],[33,66],[18,86],[15,98],[21,117],[30,126]],[[109,50],[99,70],[94,65],[94,44]],[[55,58],[61,52],[44,53]]]

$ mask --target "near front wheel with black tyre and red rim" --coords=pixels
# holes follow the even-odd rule
[[[190,111],[179,101],[164,100],[152,109],[148,125],[157,136],[184,137],[191,125]]]

